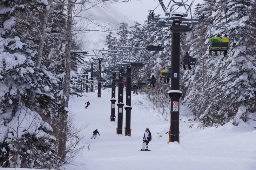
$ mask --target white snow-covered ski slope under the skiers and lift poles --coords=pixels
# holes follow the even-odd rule
[[[126,105],[125,98],[124,91]],[[153,110],[146,96],[132,94],[131,136],[124,136],[125,110],[123,135],[116,134],[117,106],[116,121],[111,122],[110,99],[111,89],[103,90],[101,98],[97,98],[96,92],[70,99],[70,111],[78,116],[77,126],[88,124],[82,145],[90,144],[90,149],[83,149],[72,164],[65,165],[66,170],[256,170],[254,120],[238,126],[202,127],[199,123],[189,123],[186,115],[191,113],[180,105],[180,144],[168,144],[165,133],[169,130],[170,116],[167,115],[166,121],[166,114],[162,116],[157,109]],[[91,105],[85,109],[88,101]],[[151,151],[138,151],[146,127],[152,134]],[[90,139],[96,128],[100,136]]]

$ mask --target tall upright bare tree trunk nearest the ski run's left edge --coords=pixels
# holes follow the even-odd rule
[[[65,43],[65,52],[64,52],[64,61],[65,61],[65,75],[63,78],[63,93],[61,97],[61,105],[64,108],[68,108],[69,101],[69,85],[70,85],[70,51],[71,51],[71,42],[72,42],[72,13],[74,9],[74,3],[72,0],[67,1],[67,18],[66,18],[66,43]],[[66,156],[66,139],[67,139],[67,112],[60,113],[60,132],[59,132],[59,149],[58,156],[61,161],[64,161]]]

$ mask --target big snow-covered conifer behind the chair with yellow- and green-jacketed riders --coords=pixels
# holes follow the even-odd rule
[[[226,6],[222,6],[223,4]],[[192,82],[195,82],[195,75],[193,75],[188,80],[193,90],[190,91],[187,99],[190,101],[191,109],[201,109],[201,111],[205,109],[200,117],[203,123],[212,125],[230,121],[237,125],[240,119],[247,120],[246,113],[249,110],[255,110],[255,82],[251,81],[254,77],[254,64],[253,61],[251,62],[252,58],[249,57],[251,48],[247,45],[249,33],[253,31],[248,11],[252,3],[251,1],[218,0],[214,6],[218,8],[209,16],[209,19],[213,20],[213,25],[224,24],[226,22],[224,8],[227,7],[225,26],[229,29],[230,39],[232,37],[232,41],[239,44],[231,47],[227,60],[222,60],[222,55],[206,60],[203,93],[200,97],[200,93],[197,92],[200,88],[194,88],[192,85]],[[220,27],[215,30],[215,34],[224,35],[227,34],[227,30]],[[207,53],[203,57],[206,56]],[[202,68],[197,66],[197,69]],[[194,98],[192,94],[196,92],[198,95]],[[199,103],[198,100],[201,102]]]

